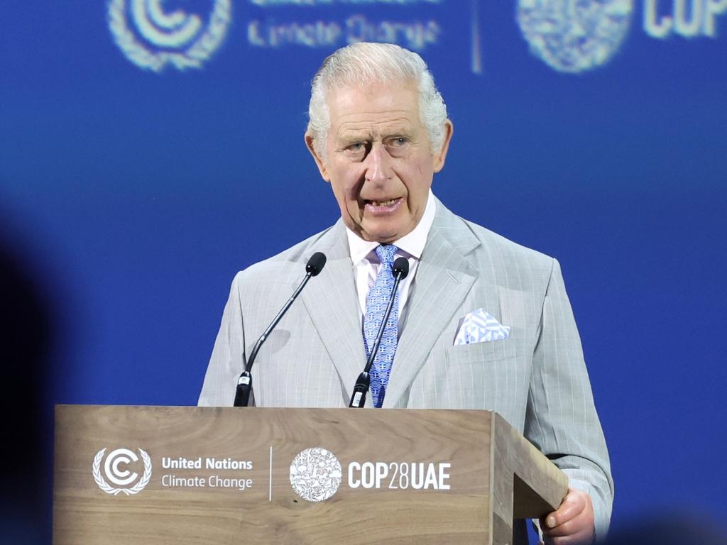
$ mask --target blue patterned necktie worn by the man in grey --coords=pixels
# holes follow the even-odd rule
[[[391,297],[391,288],[394,286],[394,275],[391,266],[394,262],[394,254],[398,248],[393,244],[379,246],[376,254],[381,260],[381,269],[374,281],[374,285],[366,295],[366,315],[364,316],[364,344],[366,345],[366,358],[371,355],[371,348],[376,342],[381,322],[384,319],[387,304]],[[391,307],[391,314],[384,329],[384,336],[379,344],[379,350],[371,365],[371,396],[374,407],[381,407],[386,394],[386,386],[389,382],[391,364],[396,352],[399,323],[399,293],[394,296],[394,304]]]

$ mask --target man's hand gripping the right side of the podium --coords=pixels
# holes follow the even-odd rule
[[[540,519],[547,545],[585,545],[593,543],[593,504],[587,493],[569,488],[557,511]]]

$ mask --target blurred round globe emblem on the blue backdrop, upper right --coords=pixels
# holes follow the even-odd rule
[[[517,20],[531,52],[559,72],[605,65],[621,47],[633,0],[518,0]]]

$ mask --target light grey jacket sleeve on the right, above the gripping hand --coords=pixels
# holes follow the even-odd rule
[[[526,409],[525,435],[593,501],[595,531],[611,519],[614,483],[606,441],[561,267],[553,259],[545,292]]]

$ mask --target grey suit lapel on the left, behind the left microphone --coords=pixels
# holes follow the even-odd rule
[[[326,254],[326,266],[318,278],[311,278],[301,298],[340,376],[343,397],[348,403],[350,392],[346,392],[353,389],[356,377],[363,371],[366,352],[361,336],[361,310],[353,279],[353,264],[341,220],[316,242],[310,254],[315,251]],[[305,259],[308,257],[305,256]]]

